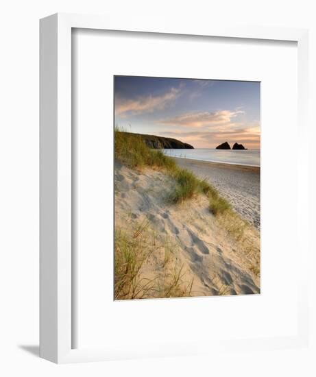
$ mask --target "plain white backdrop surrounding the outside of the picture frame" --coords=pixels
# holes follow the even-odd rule
[[[180,17],[181,22],[190,23],[310,27],[313,46],[311,100],[316,103],[313,1],[31,0],[10,1],[2,5],[1,375],[192,376],[203,373],[206,376],[315,376],[315,319],[311,322],[314,348],[310,350],[59,366],[27,352],[36,353],[38,346],[38,19],[54,12],[115,14],[121,19],[153,16],[161,22]],[[311,146],[315,142],[315,127],[312,132]],[[315,185],[313,191],[316,191]],[[315,201],[312,205],[315,209]],[[315,264],[315,256],[306,260],[306,274],[311,276],[313,287],[316,283]],[[315,303],[315,289],[311,291],[311,297]],[[312,306],[316,317],[315,305]]]

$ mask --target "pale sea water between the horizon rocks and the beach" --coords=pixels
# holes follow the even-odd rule
[[[260,167],[260,151],[258,149],[162,149],[162,151],[171,157]]]

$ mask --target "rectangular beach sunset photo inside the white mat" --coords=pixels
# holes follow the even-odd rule
[[[114,300],[260,294],[260,82],[113,80]]]

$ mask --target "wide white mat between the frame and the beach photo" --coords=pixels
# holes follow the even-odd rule
[[[289,146],[297,141],[296,44],[88,30],[77,30],[73,44],[78,348],[110,343],[129,355],[156,344],[197,343],[197,352],[223,339],[295,335],[299,279],[292,277],[299,245],[297,210],[289,203],[297,202],[297,154],[279,146],[280,140]],[[261,82],[261,295],[113,302],[114,74]]]

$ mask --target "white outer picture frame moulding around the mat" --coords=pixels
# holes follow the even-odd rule
[[[55,363],[103,361],[119,358],[107,349],[72,349],[72,165],[71,165],[71,29],[104,29],[194,36],[218,36],[297,42],[298,113],[300,145],[308,138],[308,31],[271,27],[218,27],[209,25],[156,25],[148,20],[53,14],[40,20],[40,356]],[[299,184],[308,181],[308,150],[297,152],[302,162]],[[300,199],[300,215],[308,215],[308,195]],[[306,212],[307,211],[307,212]],[[308,216],[306,216],[306,219]],[[307,221],[307,220],[306,220]],[[308,253],[308,226],[300,226]],[[297,333],[292,337],[239,341],[239,348],[300,347],[308,342],[308,277],[300,273]],[[236,345],[236,341],[235,341]],[[168,351],[166,351],[168,354]],[[194,353],[192,351],[192,353]],[[180,352],[181,354],[181,352]],[[124,355],[121,355],[123,358]]]

